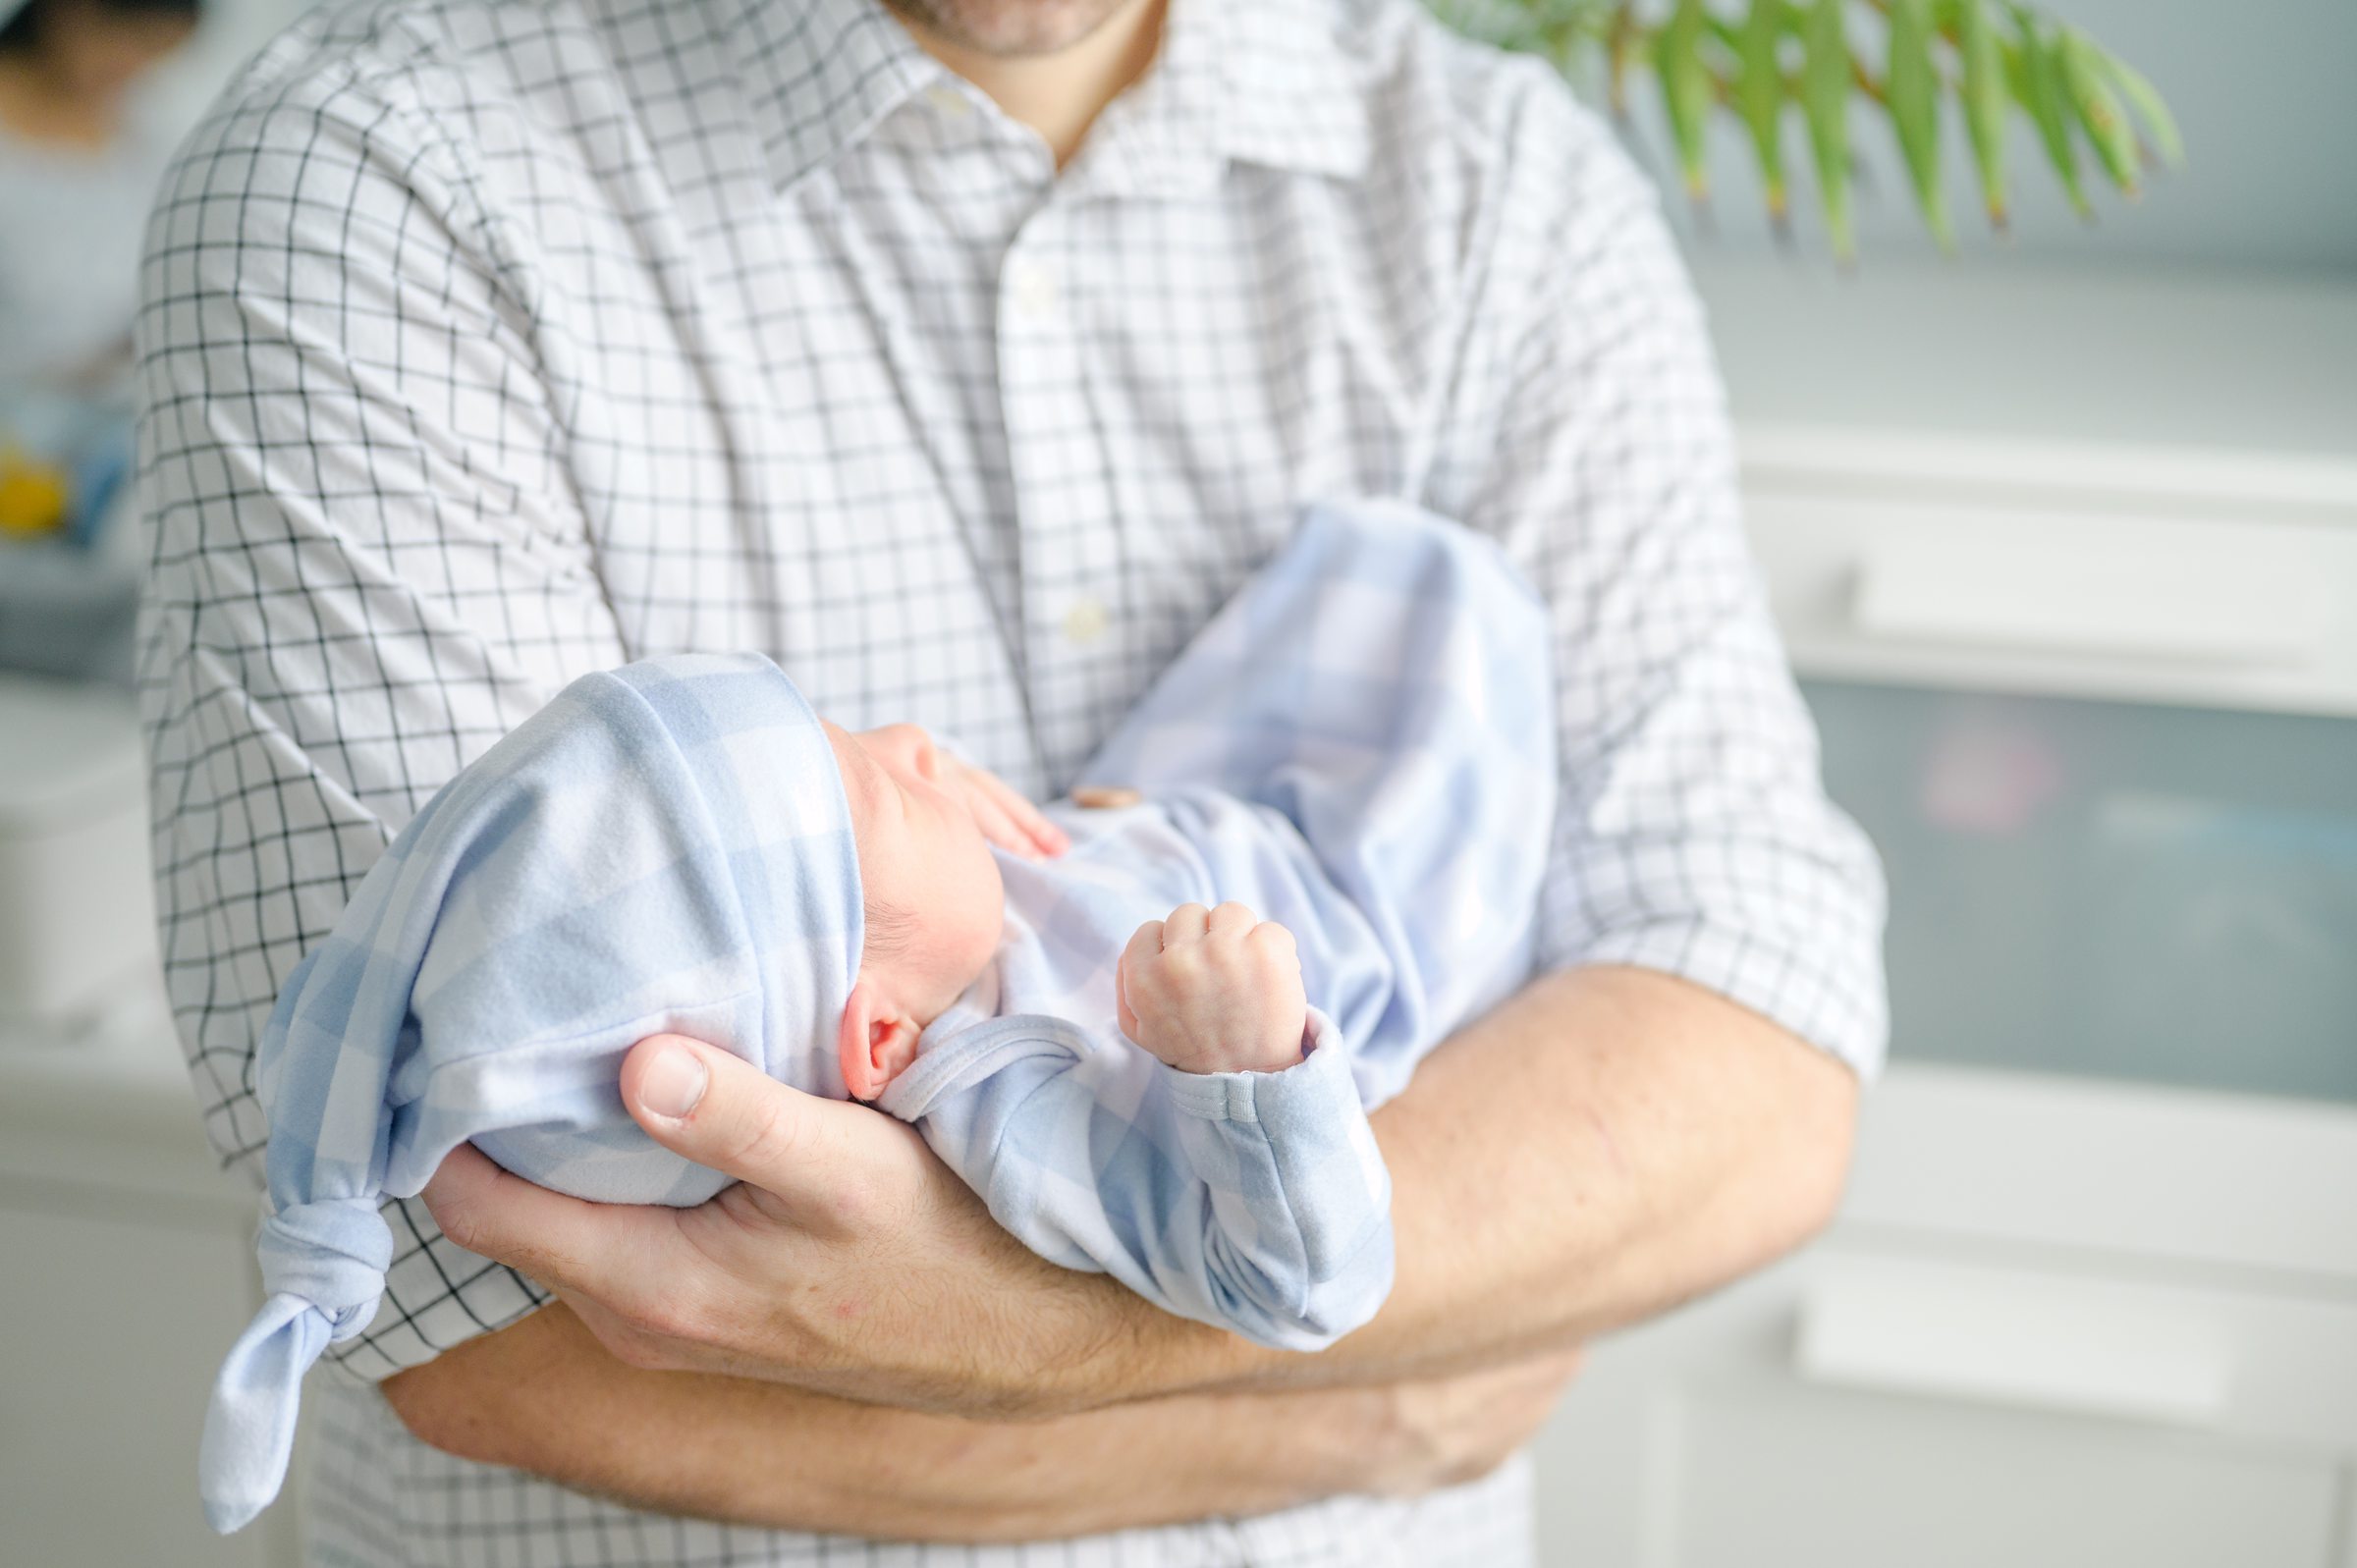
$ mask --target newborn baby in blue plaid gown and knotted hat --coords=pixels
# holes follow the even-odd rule
[[[1082,771],[1134,802],[1049,806],[1047,835],[759,655],[575,681],[427,802],[280,993],[269,1302],[205,1422],[214,1526],[276,1495],[302,1372],[384,1285],[382,1198],[457,1144],[594,1200],[726,1184],[620,1106],[655,1033],[910,1120],[1025,1245],[1167,1311],[1292,1349],[1358,1327],[1391,1287],[1367,1108],[1527,976],[1546,646],[1490,540],[1310,509]],[[1070,846],[992,846],[976,806]]]

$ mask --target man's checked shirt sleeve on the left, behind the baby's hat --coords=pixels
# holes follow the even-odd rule
[[[259,85],[257,85],[259,83]],[[158,920],[207,1134],[259,1184],[255,1042],[389,837],[627,653],[448,132],[342,75],[250,75],[163,182],[141,264],[141,604]],[[384,1377],[544,1297],[424,1205]]]

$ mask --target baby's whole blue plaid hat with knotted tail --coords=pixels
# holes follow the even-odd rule
[[[827,726],[759,653],[585,674],[443,785],[285,981],[255,1052],[269,1304],[205,1422],[233,1530],[278,1493],[302,1375],[384,1287],[384,1195],[460,1144],[596,1203],[700,1203],[615,1078],[684,1033],[841,1096],[863,898]],[[398,1113],[396,1113],[398,1106]]]

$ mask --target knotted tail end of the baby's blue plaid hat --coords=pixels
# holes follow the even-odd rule
[[[297,1203],[262,1221],[269,1299],[222,1361],[205,1410],[198,1478],[224,1535],[271,1504],[295,1452],[302,1375],[377,1311],[394,1233],[375,1198]]]

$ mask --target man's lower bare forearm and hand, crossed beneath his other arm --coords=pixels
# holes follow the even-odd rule
[[[1530,1438],[1574,1363],[995,1424],[627,1368],[549,1306],[384,1394],[445,1452],[632,1507],[877,1540],[1025,1542],[1464,1481]]]

